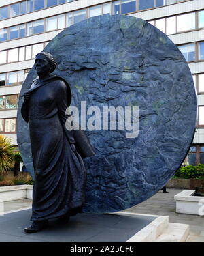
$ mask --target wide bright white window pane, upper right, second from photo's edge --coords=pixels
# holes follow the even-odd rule
[[[195,29],[195,13],[182,14],[177,16],[177,31]]]

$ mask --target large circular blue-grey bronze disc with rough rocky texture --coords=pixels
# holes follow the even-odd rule
[[[145,20],[105,15],[65,29],[44,51],[56,59],[54,73],[68,81],[71,104],[79,110],[81,101],[101,112],[103,106],[139,106],[135,138],[126,138],[125,129],[86,132],[96,154],[85,160],[84,212],[114,212],[152,197],[180,167],[196,122],[192,75],[177,46]],[[32,68],[21,97],[35,76]],[[32,171],[29,133],[20,111],[18,143]]]

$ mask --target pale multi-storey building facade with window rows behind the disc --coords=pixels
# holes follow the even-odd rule
[[[22,83],[37,53],[54,36],[92,16],[124,14],[143,18],[180,48],[197,90],[197,128],[189,162],[204,163],[203,0],[4,0],[0,2],[0,134],[16,142]]]

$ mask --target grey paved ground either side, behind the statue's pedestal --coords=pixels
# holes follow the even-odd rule
[[[169,216],[169,222],[190,225],[190,236],[188,236],[187,242],[204,242],[204,216],[177,214],[175,212],[175,201],[173,197],[182,190],[169,188],[167,191],[169,191],[169,193],[163,193],[163,191],[160,190],[147,201],[126,209],[125,212]],[[30,200],[18,200],[5,203],[4,210],[7,212],[19,208],[27,208],[29,206],[31,206]]]

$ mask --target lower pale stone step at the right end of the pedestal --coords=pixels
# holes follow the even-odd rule
[[[188,224],[169,223],[167,229],[154,242],[185,242],[188,234]]]

